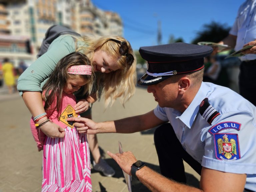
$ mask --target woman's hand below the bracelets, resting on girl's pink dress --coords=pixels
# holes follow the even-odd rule
[[[65,137],[65,129],[60,127],[59,125],[55,124],[55,123],[51,123],[50,121],[48,121],[47,123],[45,123],[44,125],[42,125],[40,127],[40,130],[47,135],[48,137],[51,138],[63,138]]]

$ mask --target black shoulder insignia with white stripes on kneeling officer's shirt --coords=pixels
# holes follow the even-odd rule
[[[212,121],[220,115],[213,106],[210,105],[208,98],[205,98],[199,107],[199,113],[211,125]]]

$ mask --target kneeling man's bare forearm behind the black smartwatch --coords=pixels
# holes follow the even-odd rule
[[[145,166],[136,172],[137,178],[154,192],[202,192],[202,190],[172,181]]]

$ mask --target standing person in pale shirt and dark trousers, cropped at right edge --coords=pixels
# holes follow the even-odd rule
[[[252,104],[256,105],[256,0],[246,0],[239,7],[236,20],[229,31],[229,35],[219,44],[229,45],[235,51],[248,45],[242,61],[239,74],[239,93]]]

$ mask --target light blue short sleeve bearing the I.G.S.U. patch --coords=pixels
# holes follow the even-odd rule
[[[222,114],[207,131],[202,166],[256,176],[256,125],[248,111]]]

